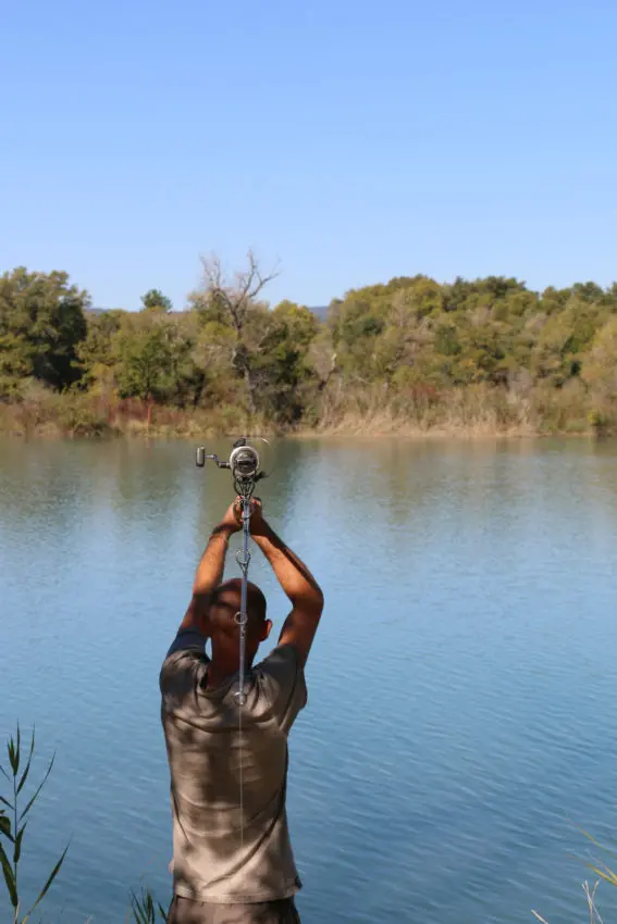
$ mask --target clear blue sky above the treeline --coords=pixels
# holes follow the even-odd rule
[[[1,5],[2,271],[125,308],[249,246],[272,302],[617,278],[615,0]]]

